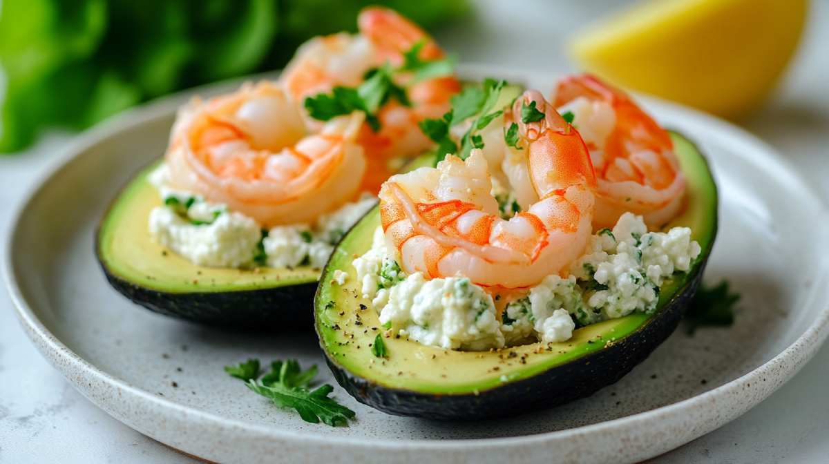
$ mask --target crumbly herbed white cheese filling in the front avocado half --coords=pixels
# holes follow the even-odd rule
[[[382,228],[371,249],[354,260],[363,297],[380,320],[424,345],[487,350],[527,342],[567,341],[575,327],[656,308],[659,286],[687,271],[701,253],[691,230],[647,232],[641,216],[626,213],[600,230],[570,275],[550,275],[507,304],[498,322],[492,297],[467,278],[406,277],[388,258]]]

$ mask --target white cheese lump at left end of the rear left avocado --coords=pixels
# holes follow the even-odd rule
[[[235,212],[221,212],[212,224],[193,225],[167,206],[150,211],[153,240],[199,266],[239,268],[250,264],[262,236],[259,224]]]

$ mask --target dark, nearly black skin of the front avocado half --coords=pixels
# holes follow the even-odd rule
[[[538,375],[475,394],[435,395],[393,389],[352,375],[326,352],[325,360],[337,383],[362,404],[396,416],[438,420],[497,418],[552,408],[594,394],[615,384],[641,363],[676,330],[702,281],[707,255],[696,275],[662,311],[637,331],[578,359]],[[323,349],[324,351],[324,349]],[[516,401],[520,398],[520,401]]]

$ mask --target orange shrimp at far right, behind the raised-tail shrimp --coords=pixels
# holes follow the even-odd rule
[[[628,94],[592,75],[562,78],[554,93],[560,113],[574,114],[596,169],[595,228],[613,227],[627,211],[651,227],[676,216],[686,179],[665,129]]]

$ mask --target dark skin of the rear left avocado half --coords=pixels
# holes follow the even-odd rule
[[[240,292],[161,292],[109,271],[109,284],[130,301],[165,316],[207,326],[269,333],[313,331],[313,297],[318,283]]]

